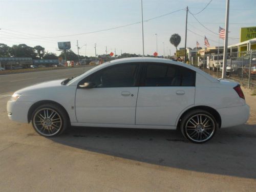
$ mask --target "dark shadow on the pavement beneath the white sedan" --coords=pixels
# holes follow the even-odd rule
[[[172,130],[70,127],[54,142],[156,165],[256,178],[256,125],[220,129],[209,142],[190,143]]]

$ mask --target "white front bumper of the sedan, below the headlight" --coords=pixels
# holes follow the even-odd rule
[[[28,111],[31,105],[31,102],[9,100],[7,102],[9,119],[21,123],[28,123]]]

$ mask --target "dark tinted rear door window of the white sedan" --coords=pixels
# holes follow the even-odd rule
[[[168,64],[148,64],[146,67],[146,87],[195,86],[196,72],[185,67]]]

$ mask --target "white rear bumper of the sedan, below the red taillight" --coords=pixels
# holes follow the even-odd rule
[[[242,106],[232,106],[217,110],[221,116],[221,127],[242,125],[247,122],[250,115],[250,107],[245,104]]]

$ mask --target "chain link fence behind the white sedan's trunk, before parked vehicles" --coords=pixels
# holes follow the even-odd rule
[[[222,78],[223,55],[198,57],[193,66],[216,78]],[[256,90],[256,51],[228,53],[226,78],[238,81],[248,89]]]

